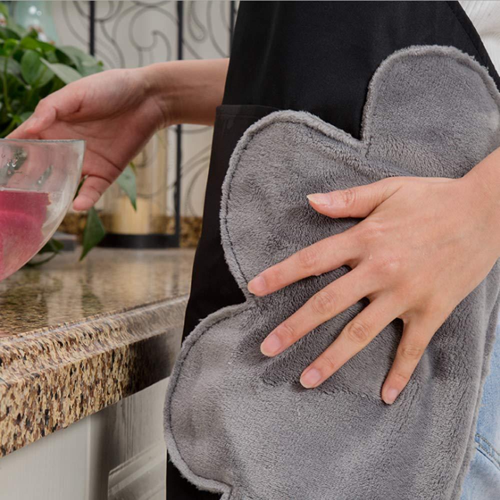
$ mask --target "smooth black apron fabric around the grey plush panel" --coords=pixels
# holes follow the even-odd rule
[[[184,337],[211,312],[244,302],[224,260],[219,204],[229,157],[246,128],[278,109],[305,110],[359,138],[366,90],[380,62],[400,48],[429,44],[474,56],[500,89],[500,77],[456,1],[240,2],[215,118]],[[220,498],[188,483],[170,461],[166,489],[167,500]]]

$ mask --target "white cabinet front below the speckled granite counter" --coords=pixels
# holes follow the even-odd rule
[[[166,384],[0,458],[0,500],[164,500]]]

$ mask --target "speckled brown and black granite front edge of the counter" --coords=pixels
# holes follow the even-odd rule
[[[0,342],[0,456],[168,376],[187,295]]]

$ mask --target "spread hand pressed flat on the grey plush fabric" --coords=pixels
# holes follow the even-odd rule
[[[392,403],[435,331],[500,255],[498,210],[480,184],[478,175],[389,177],[309,195],[312,208],[328,217],[365,218],[265,269],[248,290],[261,296],[344,264],[351,270],[274,328],[262,353],[278,354],[367,297],[370,303],[304,369],[300,382],[316,387],[399,317],[403,333],[381,390]]]

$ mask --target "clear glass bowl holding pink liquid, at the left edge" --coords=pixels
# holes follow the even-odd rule
[[[22,267],[64,217],[83,140],[0,139],[0,280]]]

